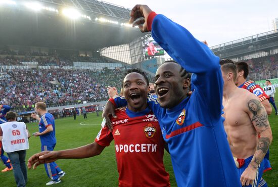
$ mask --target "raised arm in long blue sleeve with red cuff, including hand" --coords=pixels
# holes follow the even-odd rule
[[[152,31],[154,40],[184,69],[194,73],[194,95],[198,97],[200,105],[204,106],[203,111],[210,112],[211,123],[219,121],[223,95],[219,57],[186,28],[163,15],[157,15],[146,5],[136,5],[130,16],[130,22],[135,20],[135,25],[144,23],[143,26],[138,25],[141,31]]]

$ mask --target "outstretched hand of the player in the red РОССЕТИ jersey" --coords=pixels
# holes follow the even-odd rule
[[[42,151],[40,153],[34,154],[28,160],[28,168],[31,169],[34,165],[33,169],[36,169],[38,165],[55,162],[58,158],[58,152],[56,151]]]

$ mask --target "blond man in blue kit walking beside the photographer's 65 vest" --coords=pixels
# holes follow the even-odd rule
[[[40,137],[41,151],[53,151],[56,145],[54,117],[47,112],[47,105],[43,102],[35,104],[35,111],[41,117],[39,118],[36,114],[31,115],[32,118],[39,121],[39,132],[35,132],[34,136]],[[51,178],[47,185],[61,182],[61,177],[66,174],[55,162],[44,164],[44,167]]]

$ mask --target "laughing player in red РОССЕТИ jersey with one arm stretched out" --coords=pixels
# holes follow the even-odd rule
[[[170,186],[169,174],[163,164],[161,129],[157,118],[147,107],[148,91],[149,80],[145,73],[131,70],[123,80],[123,93],[128,105],[116,111],[118,118],[111,118],[113,131],[104,127],[104,120],[94,143],[70,150],[37,153],[29,158],[28,168],[57,159],[99,155],[114,139],[119,186]]]

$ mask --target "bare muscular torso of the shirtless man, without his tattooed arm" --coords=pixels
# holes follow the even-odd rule
[[[233,156],[246,159],[255,153],[258,143],[258,134],[247,113],[251,93],[243,88],[236,88],[233,93],[233,96],[223,98],[224,128]]]

